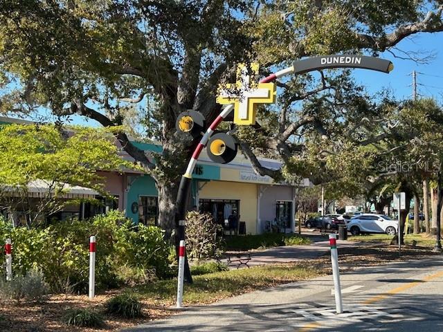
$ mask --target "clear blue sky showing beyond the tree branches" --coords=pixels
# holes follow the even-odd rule
[[[411,73],[417,72],[417,93],[419,98],[435,98],[443,104],[443,33],[420,33],[413,37],[403,39],[397,48],[405,52],[414,52],[419,55],[432,53],[433,59],[428,64],[420,64],[410,59],[399,59],[389,52],[382,53],[380,57],[389,59],[394,64],[394,70],[389,74],[355,69],[352,73],[356,82],[366,87],[370,94],[377,94],[383,88],[392,91],[397,100],[412,98]],[[400,51],[395,50],[397,56],[405,57]],[[47,120],[49,114],[41,114]],[[38,120],[33,117],[29,120]],[[71,124],[82,124],[89,127],[99,127],[94,120],[82,116],[72,116]]]

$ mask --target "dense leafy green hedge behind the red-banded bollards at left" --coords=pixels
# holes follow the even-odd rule
[[[164,232],[154,226],[134,227],[122,212],[111,211],[91,221],[60,222],[44,229],[10,228],[0,220],[0,241],[12,239],[12,270],[26,275],[41,270],[54,292],[87,293],[89,237],[97,238],[96,288],[118,286],[122,266],[134,268],[133,281],[146,282],[140,271],[169,273],[169,246]],[[0,255],[0,264],[4,255]],[[121,279],[120,279],[121,280]]]

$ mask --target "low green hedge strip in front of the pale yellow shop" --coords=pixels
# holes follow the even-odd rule
[[[285,244],[291,243],[291,244]],[[264,233],[226,237],[226,250],[251,250],[278,246],[299,246],[311,243],[307,237],[296,234]]]

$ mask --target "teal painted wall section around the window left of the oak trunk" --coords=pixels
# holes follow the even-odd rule
[[[149,175],[128,176],[128,185],[126,215],[134,223],[138,223],[138,211],[132,212],[132,203],[138,203],[138,196],[158,196],[157,188],[154,179]]]

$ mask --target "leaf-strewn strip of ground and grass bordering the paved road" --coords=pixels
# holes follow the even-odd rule
[[[406,247],[401,257],[399,257],[397,248],[386,244],[370,247],[339,248],[338,254],[342,271],[384,264],[395,260],[407,261],[435,255],[430,248]],[[330,273],[329,255],[291,264],[258,266],[199,275],[194,277],[194,284],[186,285],[184,303],[186,305],[208,304],[260,288],[311,279],[327,273]],[[132,288],[131,291],[137,293],[143,302],[145,317],[125,320],[104,314],[106,326],[98,331],[118,331],[127,326],[177,313],[177,311],[170,309],[175,301],[176,287],[177,280],[170,279]],[[62,316],[70,308],[85,306],[103,312],[107,299],[122,291],[102,293],[93,301],[89,301],[85,295],[54,295],[49,297],[46,302],[40,303],[0,301],[0,331],[97,331],[66,326],[62,322]]]

